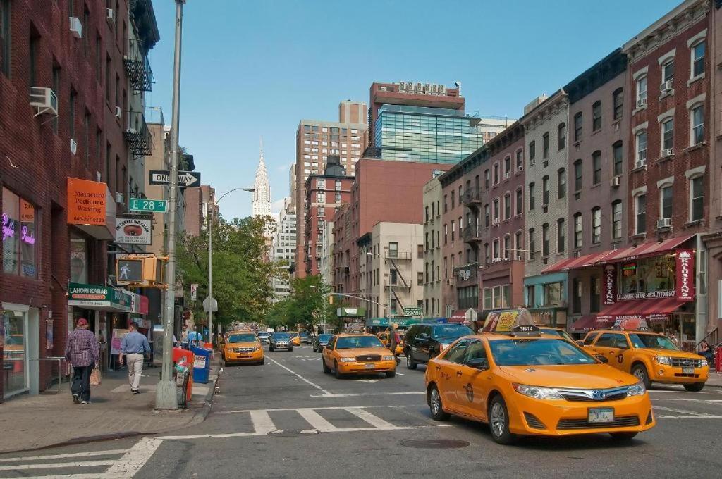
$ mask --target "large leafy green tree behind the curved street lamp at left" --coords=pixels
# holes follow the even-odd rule
[[[218,301],[214,321],[228,324],[264,318],[273,294],[271,278],[277,274],[277,265],[267,260],[264,237],[271,224],[270,217],[214,221],[213,296]],[[184,291],[199,284],[198,300],[189,304],[196,317],[206,317],[202,301],[208,296],[208,230],[198,237],[184,237],[177,255]]]

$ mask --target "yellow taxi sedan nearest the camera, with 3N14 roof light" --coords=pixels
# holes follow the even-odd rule
[[[629,440],[656,425],[638,378],[559,336],[519,328],[465,336],[429,361],[427,403],[435,420],[453,414],[488,423],[499,444],[519,435]]]

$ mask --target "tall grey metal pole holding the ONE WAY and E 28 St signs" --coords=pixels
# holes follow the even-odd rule
[[[173,322],[175,317],[175,208],[178,195],[178,125],[181,107],[181,34],[183,32],[183,4],[175,0],[175,56],[173,58],[173,118],[170,126],[170,195],[168,204],[168,265],[165,278],[168,289],[165,295],[163,318],[163,366],[162,377],[155,390],[155,408],[178,409],[175,383],[171,377],[173,359]]]

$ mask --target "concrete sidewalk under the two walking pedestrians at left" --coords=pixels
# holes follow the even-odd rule
[[[0,431],[12,431],[12,441],[0,441],[0,453],[40,449],[118,437],[173,431],[203,421],[218,378],[219,361],[212,360],[208,384],[194,384],[186,410],[156,412],[155,386],[160,367],[145,368],[140,394],[132,395],[126,369],[103,374],[91,390],[91,404],[74,404],[63,382],[38,396],[22,395],[0,404]]]

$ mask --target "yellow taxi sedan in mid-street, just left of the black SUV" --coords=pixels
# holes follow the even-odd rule
[[[383,372],[396,376],[396,358],[373,334],[337,334],[323,348],[323,372],[334,373],[336,379],[344,374]]]

